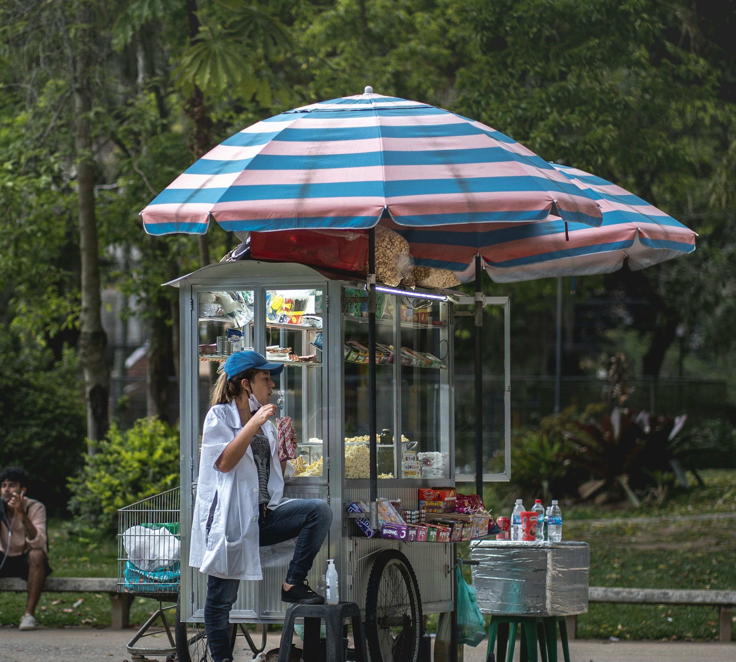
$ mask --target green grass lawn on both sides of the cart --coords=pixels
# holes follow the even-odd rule
[[[565,540],[590,543],[591,586],[736,589],[736,519],[676,519],[736,512],[736,470],[712,469],[702,475],[704,488],[693,483],[689,492],[675,494],[664,505],[648,503],[636,509],[562,505]],[[486,494],[486,503],[498,516],[510,513],[513,498],[510,491],[500,497],[494,491]],[[647,516],[660,519],[627,521]],[[460,544],[458,551],[467,555],[467,547]],[[115,541],[80,541],[68,533],[65,522],[53,520],[49,550],[53,577],[116,576]],[[470,569],[465,570],[470,578]],[[79,599],[82,602],[74,607]],[[25,594],[0,593],[0,624],[17,625],[25,604]],[[155,605],[152,599],[136,598],[131,622],[142,624]],[[36,616],[49,627],[109,626],[110,600],[106,594],[43,594]],[[428,630],[434,631],[435,624],[436,617],[431,617]],[[718,638],[718,610],[594,604],[578,619],[578,636],[712,641]]]

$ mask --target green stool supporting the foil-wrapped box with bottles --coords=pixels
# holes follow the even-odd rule
[[[542,662],[557,662],[557,627],[562,641],[562,655],[570,662],[570,647],[567,642],[565,616],[491,616],[488,627],[488,649],[486,662],[512,662],[519,627],[522,628],[521,660],[537,662],[537,647]],[[492,657],[498,639],[498,659]],[[509,651],[506,652],[508,642]]]

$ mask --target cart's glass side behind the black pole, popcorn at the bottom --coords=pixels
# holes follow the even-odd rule
[[[369,477],[367,302],[364,287],[342,288],[346,480]],[[448,306],[376,294],[380,480],[450,477]]]

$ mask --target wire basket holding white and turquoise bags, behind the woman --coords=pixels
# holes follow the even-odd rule
[[[118,591],[176,601],[180,489],[118,509]]]

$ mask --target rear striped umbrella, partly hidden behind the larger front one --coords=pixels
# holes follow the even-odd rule
[[[475,250],[476,242],[495,282],[608,274],[621,268],[627,258],[629,268],[637,271],[695,250],[696,232],[657,207],[601,177],[551,165],[598,201],[603,211],[601,227],[566,223],[556,216],[544,223],[496,224],[481,233],[390,227],[408,240],[417,264],[457,271],[463,281],[475,275],[473,266],[466,268],[466,255],[469,249]],[[434,252],[438,244],[445,246],[439,259]]]

